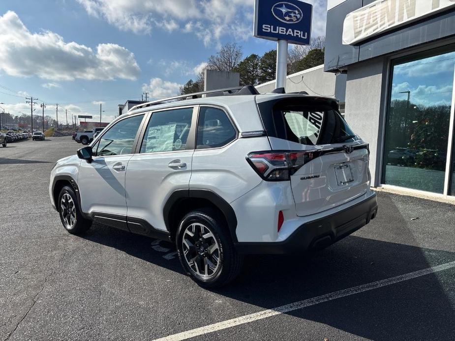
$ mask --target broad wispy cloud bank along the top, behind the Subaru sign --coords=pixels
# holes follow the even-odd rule
[[[182,27],[206,46],[219,45],[222,36],[246,40],[252,36],[253,0],[77,0],[87,13],[104,18],[124,31],[149,34],[153,29]],[[313,36],[325,35],[327,0],[313,4]]]

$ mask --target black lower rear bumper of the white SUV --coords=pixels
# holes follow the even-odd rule
[[[322,249],[364,227],[378,211],[376,193],[342,211],[298,227],[281,242],[235,243],[241,254],[289,254]]]

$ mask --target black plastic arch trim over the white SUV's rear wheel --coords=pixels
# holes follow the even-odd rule
[[[229,232],[231,234],[232,241],[236,243],[237,240],[237,217],[232,206],[223,198],[216,193],[207,189],[181,189],[176,190],[167,199],[166,204],[163,208],[164,224],[168,231],[171,231],[171,215],[172,208],[181,199],[194,198],[194,199],[207,199],[211,201],[224,215],[226,218]]]

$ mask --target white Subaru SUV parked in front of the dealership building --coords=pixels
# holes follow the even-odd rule
[[[368,157],[333,98],[246,86],[132,108],[57,162],[49,194],[68,232],[173,242],[215,287],[244,254],[321,249],[373,219]]]

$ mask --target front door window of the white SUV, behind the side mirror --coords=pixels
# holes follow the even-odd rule
[[[143,118],[144,115],[132,116],[114,124],[101,136],[96,146],[95,156],[131,154]]]

